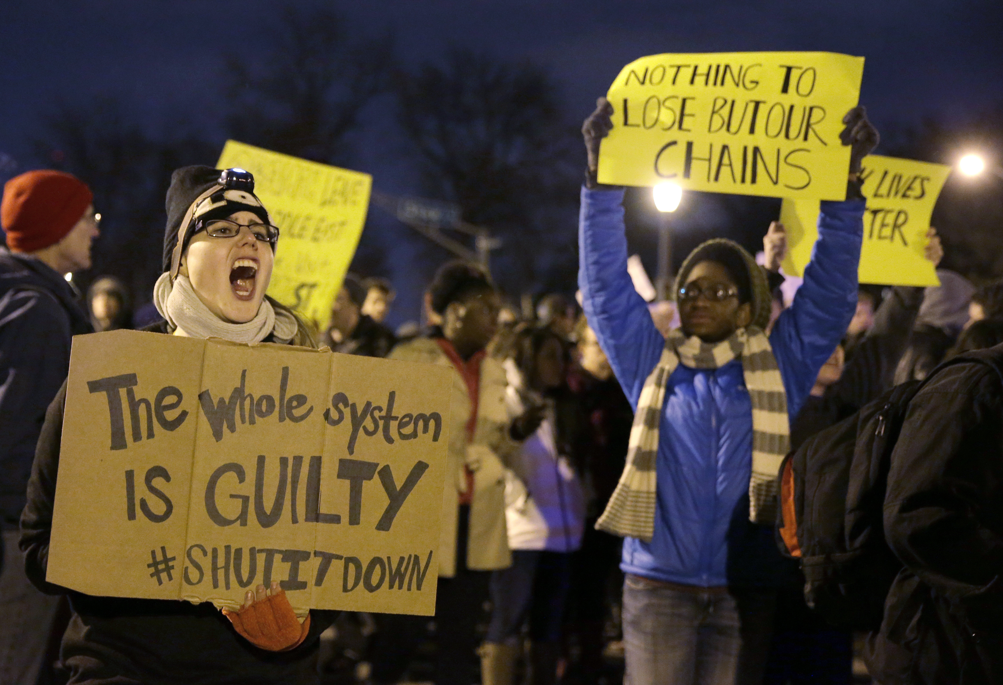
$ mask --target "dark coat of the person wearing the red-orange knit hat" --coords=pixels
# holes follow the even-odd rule
[[[90,333],[77,294],[51,267],[0,248],[0,516],[17,524],[45,408]]]

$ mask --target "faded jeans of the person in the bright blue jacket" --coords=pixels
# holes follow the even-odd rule
[[[738,603],[724,589],[686,590],[628,574],[623,605],[626,685],[733,685]]]

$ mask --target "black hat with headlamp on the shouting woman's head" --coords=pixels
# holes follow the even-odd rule
[[[229,170],[229,169],[228,169]],[[247,172],[244,172],[247,174]],[[171,271],[172,260],[174,258],[175,247],[178,245],[178,236],[183,228],[185,231],[185,244],[182,252],[188,247],[192,240],[191,226],[182,227],[182,222],[189,215],[189,210],[199,198],[214,188],[217,192],[210,194],[196,208],[190,216],[188,224],[191,225],[196,219],[204,221],[213,219],[225,219],[235,212],[253,212],[266,224],[271,221],[268,218],[268,211],[254,194],[254,178],[251,178],[251,190],[228,190],[221,185],[220,180],[223,169],[212,166],[183,166],[175,169],[171,175],[171,188],[168,189],[168,201],[165,204],[168,211],[168,226],[163,232],[163,271]],[[247,174],[247,176],[251,176]]]

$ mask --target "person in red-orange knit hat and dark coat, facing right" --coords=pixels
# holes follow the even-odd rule
[[[35,682],[58,599],[28,582],[17,522],[35,443],[69,371],[70,338],[90,333],[65,276],[90,267],[97,217],[90,189],[61,172],[28,172],[7,182],[0,223],[0,682]],[[0,558],[0,559],[2,559]]]

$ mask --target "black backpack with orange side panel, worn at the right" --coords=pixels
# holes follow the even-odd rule
[[[963,362],[990,366],[1003,379],[1003,346],[959,355],[815,433],[780,465],[777,546],[800,560],[808,606],[838,628],[881,627],[885,599],[903,568],[885,542],[892,451],[916,393]]]

